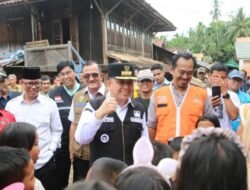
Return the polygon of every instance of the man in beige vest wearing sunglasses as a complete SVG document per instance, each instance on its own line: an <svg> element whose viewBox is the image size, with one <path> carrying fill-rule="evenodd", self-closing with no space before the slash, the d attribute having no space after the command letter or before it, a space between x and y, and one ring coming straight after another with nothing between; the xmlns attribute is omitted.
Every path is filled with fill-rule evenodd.
<svg viewBox="0 0 250 190"><path fill-rule="evenodd" d="M82 110L89 100L104 96L107 92L102 82L101 69L96 62L89 61L84 64L82 78L86 88L75 94L68 117L71 121L69 152L70 159L73 161L73 181L83 179L89 169L89 147L78 144L74 139Z"/></svg>

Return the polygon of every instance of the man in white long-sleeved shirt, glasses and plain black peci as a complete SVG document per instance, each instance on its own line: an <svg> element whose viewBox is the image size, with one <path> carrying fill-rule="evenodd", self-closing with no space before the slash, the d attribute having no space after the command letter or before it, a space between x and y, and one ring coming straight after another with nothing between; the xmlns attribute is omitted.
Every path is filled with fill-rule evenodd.
<svg viewBox="0 0 250 190"><path fill-rule="evenodd" d="M25 67L22 72L24 94L10 100L6 110L16 121L33 124L37 128L40 153L35 164L35 176L46 190L56 190L54 152L60 146L62 123L56 103L39 95L41 87L39 67Z"/></svg>

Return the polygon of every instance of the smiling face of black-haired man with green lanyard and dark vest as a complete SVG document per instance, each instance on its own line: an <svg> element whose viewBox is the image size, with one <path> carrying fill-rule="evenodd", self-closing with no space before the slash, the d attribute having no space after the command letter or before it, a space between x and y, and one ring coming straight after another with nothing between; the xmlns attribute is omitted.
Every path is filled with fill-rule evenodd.
<svg viewBox="0 0 250 190"><path fill-rule="evenodd" d="M76 74L69 66L64 67L58 76L60 77L62 84L67 88L72 89L74 87Z"/></svg>

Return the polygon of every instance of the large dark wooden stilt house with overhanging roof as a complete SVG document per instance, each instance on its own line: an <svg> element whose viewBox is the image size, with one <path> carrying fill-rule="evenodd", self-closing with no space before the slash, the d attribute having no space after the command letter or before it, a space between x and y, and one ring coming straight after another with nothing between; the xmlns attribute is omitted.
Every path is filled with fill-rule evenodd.
<svg viewBox="0 0 250 190"><path fill-rule="evenodd" d="M0 51L71 41L84 60L152 64L153 35L175 29L144 0L0 1Z"/></svg>

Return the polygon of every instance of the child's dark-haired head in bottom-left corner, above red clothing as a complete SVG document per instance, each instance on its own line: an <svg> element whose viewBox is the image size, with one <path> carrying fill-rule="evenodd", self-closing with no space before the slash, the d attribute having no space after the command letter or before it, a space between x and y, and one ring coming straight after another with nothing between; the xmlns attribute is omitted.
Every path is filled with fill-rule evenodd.
<svg viewBox="0 0 250 190"><path fill-rule="evenodd" d="M25 190L34 189L34 165L27 150L22 148L0 147L0 189L22 182Z"/></svg>

